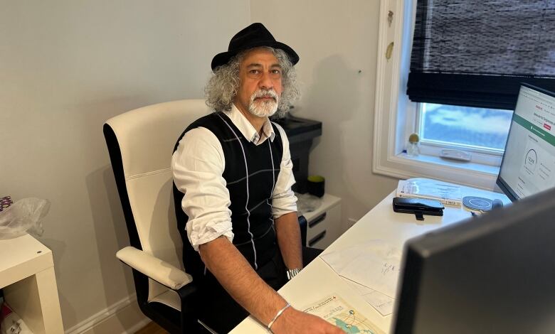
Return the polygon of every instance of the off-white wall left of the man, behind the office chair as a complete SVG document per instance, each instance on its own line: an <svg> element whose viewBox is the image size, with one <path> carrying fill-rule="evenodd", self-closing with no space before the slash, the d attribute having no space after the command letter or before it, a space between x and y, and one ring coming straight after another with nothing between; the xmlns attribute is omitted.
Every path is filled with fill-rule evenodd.
<svg viewBox="0 0 555 334"><path fill-rule="evenodd" d="M52 202L40 239L53 250L66 329L134 291L115 258L128 238L103 122L202 97L211 58L250 23L249 7L0 0L0 195Z"/></svg>

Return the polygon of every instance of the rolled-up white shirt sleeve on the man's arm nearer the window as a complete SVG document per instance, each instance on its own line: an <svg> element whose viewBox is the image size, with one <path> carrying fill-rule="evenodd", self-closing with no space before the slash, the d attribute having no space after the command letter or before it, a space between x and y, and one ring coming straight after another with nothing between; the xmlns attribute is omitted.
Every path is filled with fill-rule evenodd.
<svg viewBox="0 0 555 334"><path fill-rule="evenodd" d="M281 126L277 125L283 142L283 155L280 163L280 173L277 175L274 192L272 193L272 215L275 218L281 217L289 212L297 211L297 196L291 190L295 184L293 176L293 163L289 151L289 139Z"/></svg>

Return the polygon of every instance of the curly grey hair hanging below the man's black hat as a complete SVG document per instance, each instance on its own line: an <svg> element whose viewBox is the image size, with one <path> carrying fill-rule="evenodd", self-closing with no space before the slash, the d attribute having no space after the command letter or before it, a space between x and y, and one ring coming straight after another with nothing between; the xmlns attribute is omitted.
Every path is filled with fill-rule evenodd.
<svg viewBox="0 0 555 334"><path fill-rule="evenodd" d="M279 99L280 103L277 105L275 117L283 117L289 111L292 102L300 96L297 85L297 73L285 51L266 46L263 48L272 51L282 69L281 84L283 91ZM208 107L216 111L231 110L233 99L235 99L239 89L240 64L248 51L245 50L238 53L226 65L218 66L214 70L206 87L204 87Z"/></svg>

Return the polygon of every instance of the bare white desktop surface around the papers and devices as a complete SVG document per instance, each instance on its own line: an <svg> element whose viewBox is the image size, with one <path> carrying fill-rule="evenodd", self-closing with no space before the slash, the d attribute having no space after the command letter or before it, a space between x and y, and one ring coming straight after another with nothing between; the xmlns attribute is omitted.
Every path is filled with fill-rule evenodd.
<svg viewBox="0 0 555 334"><path fill-rule="evenodd" d="M503 203L510 203L509 199L503 194L462 187L462 196L466 195L483 196L490 199L498 198ZM324 254L371 239L383 239L391 245L402 249L406 239L472 217L470 211L462 207L453 208L445 206L443 216L425 215L425 220L418 222L414 215L393 212L391 204L393 197L394 192L384 198L376 207L364 215L361 220L356 222L353 227L331 244L324 251ZM335 293L338 296L342 296L347 303L368 318L374 325L384 330L384 332L389 333L391 329L393 315L381 316L361 296L352 291L351 287L319 257L314 259L313 262L295 276L295 279L285 284L279 293L297 309L302 309ZM231 333L268 333L268 330L254 318L248 317L234 328Z"/></svg>

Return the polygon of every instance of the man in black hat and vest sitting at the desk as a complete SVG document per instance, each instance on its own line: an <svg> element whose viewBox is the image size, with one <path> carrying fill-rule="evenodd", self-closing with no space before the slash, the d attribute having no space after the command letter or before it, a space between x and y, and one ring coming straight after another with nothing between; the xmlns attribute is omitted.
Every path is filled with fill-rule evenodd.
<svg viewBox="0 0 555 334"><path fill-rule="evenodd" d="M206 94L215 112L187 127L172 157L199 322L218 333L248 313L273 333L342 333L276 292L317 256L300 242L287 136L268 119L297 97L298 60L261 23L233 36L211 64Z"/></svg>

